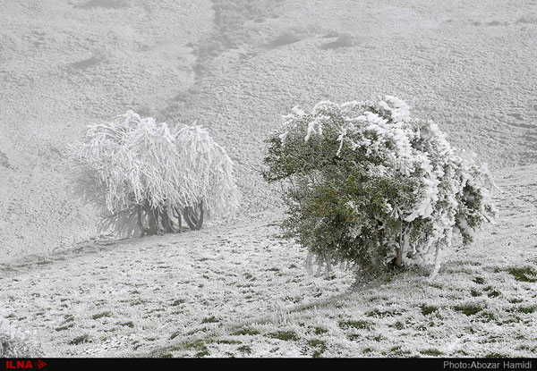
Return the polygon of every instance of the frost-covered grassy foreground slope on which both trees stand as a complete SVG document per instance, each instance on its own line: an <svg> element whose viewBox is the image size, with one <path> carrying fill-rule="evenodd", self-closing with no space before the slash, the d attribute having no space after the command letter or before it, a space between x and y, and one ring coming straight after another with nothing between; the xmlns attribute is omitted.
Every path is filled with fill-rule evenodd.
<svg viewBox="0 0 537 371"><path fill-rule="evenodd" d="M351 291L306 273L281 215L3 265L0 301L47 356L530 357L537 351L537 182L499 177L497 225L438 278L407 269ZM521 174L528 175L521 175Z"/></svg>

